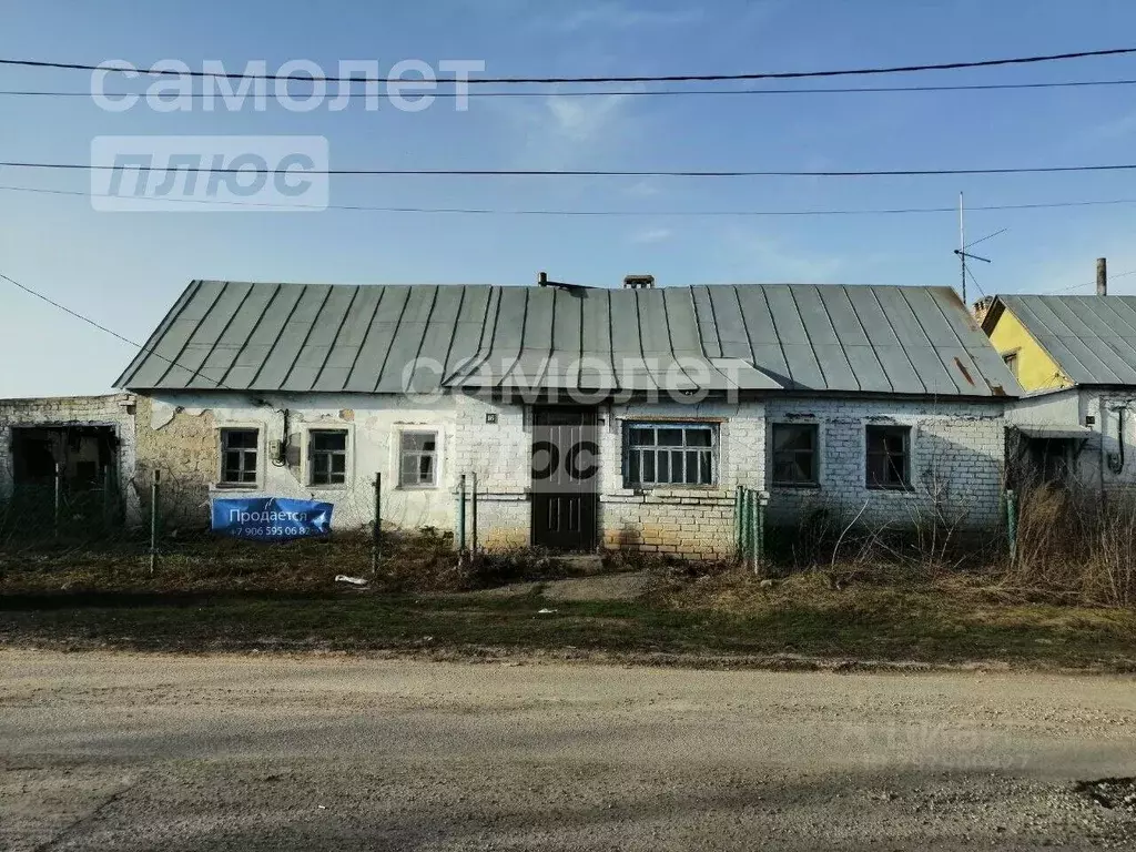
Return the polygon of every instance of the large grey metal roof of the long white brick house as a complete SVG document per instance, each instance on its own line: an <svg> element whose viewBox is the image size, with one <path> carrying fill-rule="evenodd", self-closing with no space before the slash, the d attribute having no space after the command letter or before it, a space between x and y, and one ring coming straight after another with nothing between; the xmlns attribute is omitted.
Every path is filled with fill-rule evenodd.
<svg viewBox="0 0 1136 852"><path fill-rule="evenodd" d="M199 281L115 384L351 393L1021 393L950 287L804 284L604 290Z"/></svg>

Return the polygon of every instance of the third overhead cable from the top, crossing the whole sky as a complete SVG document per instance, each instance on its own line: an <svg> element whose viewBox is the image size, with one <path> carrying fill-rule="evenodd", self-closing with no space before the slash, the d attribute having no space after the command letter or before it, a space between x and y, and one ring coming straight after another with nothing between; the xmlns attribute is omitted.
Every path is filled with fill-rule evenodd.
<svg viewBox="0 0 1136 852"><path fill-rule="evenodd" d="M175 169L162 166L108 166L90 162L0 162L0 168L27 168L64 172L208 172L215 175L286 175L282 169L269 168L211 168L185 166ZM760 170L760 169L511 169L511 168L329 168L304 169L304 175L394 177L928 177L950 175L1038 175L1075 172L1130 172L1136 164L1108 164L1096 166L1024 166L1009 168L922 168L922 169L864 169L864 170Z"/></svg>

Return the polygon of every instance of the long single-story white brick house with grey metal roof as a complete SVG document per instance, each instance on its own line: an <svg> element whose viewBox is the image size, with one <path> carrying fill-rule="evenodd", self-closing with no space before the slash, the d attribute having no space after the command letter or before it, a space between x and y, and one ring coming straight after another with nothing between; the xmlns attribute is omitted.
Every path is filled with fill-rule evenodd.
<svg viewBox="0 0 1136 852"><path fill-rule="evenodd" d="M947 287L342 286L195 281L116 386L139 476L309 496L335 524L454 527L477 477L487 548L734 549L826 506L997 523L1009 369ZM535 470L535 471L534 471ZM197 513L197 515L194 515Z"/></svg>

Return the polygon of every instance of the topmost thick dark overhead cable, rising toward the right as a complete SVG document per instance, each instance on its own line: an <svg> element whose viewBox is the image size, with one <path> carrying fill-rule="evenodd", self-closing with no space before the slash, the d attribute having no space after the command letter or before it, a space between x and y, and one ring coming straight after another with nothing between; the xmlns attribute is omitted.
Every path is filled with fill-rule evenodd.
<svg viewBox="0 0 1136 852"><path fill-rule="evenodd" d="M515 84L560 84L560 83L687 83L687 82L722 82L730 80L804 80L812 77L849 77L875 74L908 74L911 72L928 70L958 70L962 68L994 68L1009 65L1036 65L1039 62L1058 62L1070 59L1088 59L1093 57L1127 56L1136 53L1136 48L1112 48L1106 50L1080 50L1068 53L1049 53L1042 56L1011 57L1004 59L980 59L976 61L938 62L930 65L897 65L866 68L845 68L838 70L810 70L810 72L757 72L749 74L667 74L661 76L580 76L580 77L474 77L468 81L470 85L482 85L495 83L501 85ZM102 70L110 73L127 73L136 70L140 74L153 76L176 76L176 77L206 77L215 80L266 80L266 81L308 81L318 83L358 83L362 82L352 77L327 77L323 75L279 75L279 74L250 74L237 72L200 72L200 70L174 70L174 69L143 69L143 68L107 68L99 65L86 65L83 62L55 62L41 59L0 59L0 66L14 66L24 68L56 68L61 70ZM406 81L414 82L414 81ZM452 82L452 81L446 81Z"/></svg>

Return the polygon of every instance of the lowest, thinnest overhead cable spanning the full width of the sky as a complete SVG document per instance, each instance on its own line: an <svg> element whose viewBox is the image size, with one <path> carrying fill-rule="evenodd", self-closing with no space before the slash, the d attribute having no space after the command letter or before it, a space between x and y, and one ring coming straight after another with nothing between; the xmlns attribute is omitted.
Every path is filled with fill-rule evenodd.
<svg viewBox="0 0 1136 852"><path fill-rule="evenodd" d="M126 199L130 201L152 201L156 203L186 204L224 204L236 208L264 208L266 210L351 210L357 212L391 212L391 214L454 214L475 216L580 216L580 217L803 217L803 216L897 216L920 214L958 214L954 207L896 207L896 208L861 208L861 209L821 209L821 210L570 210L570 209L533 209L533 208L488 208L488 207L378 207L371 204L273 204L256 201L225 201L194 198L168 198L150 195L116 195L109 192L86 192L83 190L57 190L45 186L14 186L0 184L0 192L26 192L41 195L66 195L72 198ZM1136 204L1136 198L1100 199L1086 201L1050 201L1024 204L982 204L969 208L970 211L1011 211L1011 210L1049 210L1076 207L1111 207L1116 204ZM1001 233L1001 232L1000 232ZM1079 285L1078 285L1079 286Z"/></svg>

